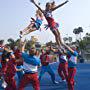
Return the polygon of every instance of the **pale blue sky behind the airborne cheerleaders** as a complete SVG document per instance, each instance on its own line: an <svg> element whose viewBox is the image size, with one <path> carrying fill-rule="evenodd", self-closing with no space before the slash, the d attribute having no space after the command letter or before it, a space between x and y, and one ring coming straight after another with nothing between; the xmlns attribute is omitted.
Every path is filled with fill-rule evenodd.
<svg viewBox="0 0 90 90"><path fill-rule="evenodd" d="M52 0L35 0L41 3L44 9L45 3ZM56 5L65 0L55 0ZM19 31L30 23L30 18L35 17L37 8L29 0L1 0L0 2L0 39L18 39ZM83 34L90 33L90 0L69 0L69 2L53 12L55 21L60 24L61 37L73 37L73 29L82 27ZM25 38L36 36L38 41L46 43L55 42L54 35L50 30L35 31Z"/></svg>

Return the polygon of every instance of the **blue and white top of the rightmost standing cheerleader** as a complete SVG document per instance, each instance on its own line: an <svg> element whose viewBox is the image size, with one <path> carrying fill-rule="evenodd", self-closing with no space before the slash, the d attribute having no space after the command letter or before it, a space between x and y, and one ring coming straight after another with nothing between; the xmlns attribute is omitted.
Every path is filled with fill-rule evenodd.
<svg viewBox="0 0 90 90"><path fill-rule="evenodd" d="M77 51L74 51L73 54L71 52L68 52L68 55L69 55L69 58L68 58L68 67L70 67L70 68L76 67L77 57L78 57Z"/></svg>

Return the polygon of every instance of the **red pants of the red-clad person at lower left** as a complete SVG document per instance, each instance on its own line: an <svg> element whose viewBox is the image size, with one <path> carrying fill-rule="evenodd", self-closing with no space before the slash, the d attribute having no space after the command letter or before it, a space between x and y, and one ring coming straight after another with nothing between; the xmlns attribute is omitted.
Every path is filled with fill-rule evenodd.
<svg viewBox="0 0 90 90"><path fill-rule="evenodd" d="M5 81L7 83L5 90L16 90L16 81L14 77L5 77Z"/></svg>

